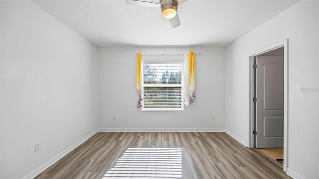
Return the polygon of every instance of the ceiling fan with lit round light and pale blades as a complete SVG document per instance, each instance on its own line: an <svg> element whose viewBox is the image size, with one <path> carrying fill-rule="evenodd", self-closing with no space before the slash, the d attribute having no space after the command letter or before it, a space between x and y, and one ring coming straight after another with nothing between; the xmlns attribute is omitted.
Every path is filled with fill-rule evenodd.
<svg viewBox="0 0 319 179"><path fill-rule="evenodd" d="M180 25L180 20L177 15L178 5L186 1L187 0L160 0L160 3L155 3L142 0L126 0L125 2L128 5L160 8L163 17L169 19L171 26L176 28Z"/></svg>

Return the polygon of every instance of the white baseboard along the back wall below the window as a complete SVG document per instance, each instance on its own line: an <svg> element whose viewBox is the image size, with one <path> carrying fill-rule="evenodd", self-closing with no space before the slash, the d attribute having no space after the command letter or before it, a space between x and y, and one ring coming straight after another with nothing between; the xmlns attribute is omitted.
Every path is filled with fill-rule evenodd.
<svg viewBox="0 0 319 179"><path fill-rule="evenodd" d="M100 128L99 132L225 132L211 128Z"/></svg>

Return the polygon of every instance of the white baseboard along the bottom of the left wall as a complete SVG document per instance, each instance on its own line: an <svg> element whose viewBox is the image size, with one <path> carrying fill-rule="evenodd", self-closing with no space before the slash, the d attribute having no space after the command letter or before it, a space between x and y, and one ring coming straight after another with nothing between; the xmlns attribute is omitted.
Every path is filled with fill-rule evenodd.
<svg viewBox="0 0 319 179"><path fill-rule="evenodd" d="M82 138L81 140L79 140L78 142L76 142L75 144L73 144L72 146L70 146L69 148L65 149L64 151L62 151L60 154L56 155L55 157L53 157L51 160L49 160L48 162L44 163L42 166L38 167L37 169L35 169L34 171L32 171L31 173L29 173L28 175L24 176L22 179L33 179L34 177L36 177L37 175L39 175L41 172L43 172L45 169L47 169L48 167L50 167L52 164L54 164L55 162L57 162L59 159L61 159L62 157L64 157L65 155L67 155L69 152L71 152L72 150L74 150L76 147L78 147L79 145L81 145L83 142L85 142L86 140L88 140L90 137L94 136L96 133L98 132L98 130L94 130L93 132L91 132L90 134L88 134L87 136L85 136L84 138Z"/></svg>

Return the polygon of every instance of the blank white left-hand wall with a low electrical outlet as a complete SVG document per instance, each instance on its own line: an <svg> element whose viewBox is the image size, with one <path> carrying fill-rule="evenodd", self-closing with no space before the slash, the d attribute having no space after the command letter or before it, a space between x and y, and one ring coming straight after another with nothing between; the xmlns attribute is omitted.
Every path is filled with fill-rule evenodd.
<svg viewBox="0 0 319 179"><path fill-rule="evenodd" d="M24 0L0 1L0 39L0 178L19 179L98 128L97 48Z"/></svg>

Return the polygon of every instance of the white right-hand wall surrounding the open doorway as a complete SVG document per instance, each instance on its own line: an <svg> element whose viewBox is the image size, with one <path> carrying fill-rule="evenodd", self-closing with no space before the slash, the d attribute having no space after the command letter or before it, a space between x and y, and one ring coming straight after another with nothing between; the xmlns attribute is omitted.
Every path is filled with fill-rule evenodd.
<svg viewBox="0 0 319 179"><path fill-rule="evenodd" d="M289 39L287 173L305 179L319 178L318 13L319 1L301 1L227 46L225 52L226 130L248 144L249 55Z"/></svg>

